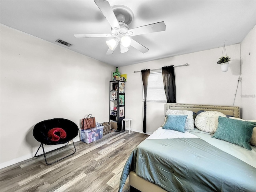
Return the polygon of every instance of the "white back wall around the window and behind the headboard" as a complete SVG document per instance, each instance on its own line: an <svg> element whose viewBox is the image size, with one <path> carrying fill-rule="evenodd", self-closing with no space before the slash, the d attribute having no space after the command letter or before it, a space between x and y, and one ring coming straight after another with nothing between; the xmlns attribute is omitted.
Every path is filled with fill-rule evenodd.
<svg viewBox="0 0 256 192"><path fill-rule="evenodd" d="M175 68L177 103L233 105L234 94L240 72L240 44L226 46L231 57L227 72L216 64L222 54L222 47L171 58L165 58L120 68L127 74L125 116L132 118L134 130L142 132L143 106L141 73L142 69L156 69L162 66L190 64ZM150 50L148 51L150 54ZM241 88L238 87L235 106L241 105ZM147 102L147 133L151 134L163 124L166 104Z"/></svg>

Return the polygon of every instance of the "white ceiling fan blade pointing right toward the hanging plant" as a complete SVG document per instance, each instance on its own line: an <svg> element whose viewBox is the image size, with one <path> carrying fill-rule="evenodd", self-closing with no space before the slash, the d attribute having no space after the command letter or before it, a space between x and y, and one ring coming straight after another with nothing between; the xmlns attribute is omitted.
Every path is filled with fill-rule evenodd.
<svg viewBox="0 0 256 192"><path fill-rule="evenodd" d="M128 31L130 36L136 36L136 35L142 35L142 34L147 34L147 33L154 33L154 32L159 32L159 31L165 31L166 25L164 22L158 22L158 23L152 23L149 25L137 27L130 29Z"/></svg>

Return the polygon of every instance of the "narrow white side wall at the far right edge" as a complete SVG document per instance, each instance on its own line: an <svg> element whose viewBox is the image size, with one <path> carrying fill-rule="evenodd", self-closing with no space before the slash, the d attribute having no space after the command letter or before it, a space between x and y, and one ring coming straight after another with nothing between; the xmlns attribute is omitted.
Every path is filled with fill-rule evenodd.
<svg viewBox="0 0 256 192"><path fill-rule="evenodd" d="M256 119L256 26L241 43L242 118Z"/></svg>

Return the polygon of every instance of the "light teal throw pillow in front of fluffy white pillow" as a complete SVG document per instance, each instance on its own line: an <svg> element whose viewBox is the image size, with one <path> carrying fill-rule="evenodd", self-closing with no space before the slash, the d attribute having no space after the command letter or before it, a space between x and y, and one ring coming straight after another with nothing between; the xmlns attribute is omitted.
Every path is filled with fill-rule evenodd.
<svg viewBox="0 0 256 192"><path fill-rule="evenodd" d="M162 128L184 133L187 117L187 115L166 115L166 121Z"/></svg>

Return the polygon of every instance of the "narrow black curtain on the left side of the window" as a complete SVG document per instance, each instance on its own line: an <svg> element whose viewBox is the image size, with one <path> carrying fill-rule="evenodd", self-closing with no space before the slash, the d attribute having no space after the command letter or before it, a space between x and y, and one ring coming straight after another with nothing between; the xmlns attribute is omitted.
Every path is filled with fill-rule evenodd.
<svg viewBox="0 0 256 192"><path fill-rule="evenodd" d="M144 88L144 118L143 118L143 132L146 133L146 114L147 114L147 93L148 93L148 76L150 69L141 70L143 88Z"/></svg>

